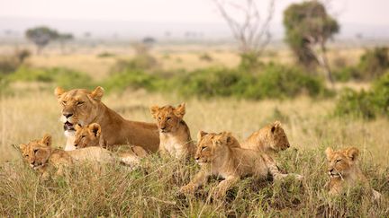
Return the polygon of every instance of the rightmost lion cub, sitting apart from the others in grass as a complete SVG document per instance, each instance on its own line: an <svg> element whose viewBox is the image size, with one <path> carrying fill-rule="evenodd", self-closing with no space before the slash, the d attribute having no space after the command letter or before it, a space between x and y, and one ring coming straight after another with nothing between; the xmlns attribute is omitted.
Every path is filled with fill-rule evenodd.
<svg viewBox="0 0 389 218"><path fill-rule="evenodd" d="M370 187L368 180L357 165L359 150L355 147L348 147L333 151L328 147L325 151L328 160L328 173L330 181L327 186L330 188L330 196L339 196L349 187L361 184L366 190L371 190L375 200L381 194Z"/></svg>

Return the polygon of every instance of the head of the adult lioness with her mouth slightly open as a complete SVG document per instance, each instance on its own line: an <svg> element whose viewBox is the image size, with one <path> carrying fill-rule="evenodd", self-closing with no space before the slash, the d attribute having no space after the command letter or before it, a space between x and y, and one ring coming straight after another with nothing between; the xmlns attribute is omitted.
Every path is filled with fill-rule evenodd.
<svg viewBox="0 0 389 218"><path fill-rule="evenodd" d="M60 120L64 123L65 133L74 132L75 125L87 125L97 117L98 106L104 95L104 89L96 87L93 92L85 89L74 89L68 92L58 87L55 95L62 106Z"/></svg>

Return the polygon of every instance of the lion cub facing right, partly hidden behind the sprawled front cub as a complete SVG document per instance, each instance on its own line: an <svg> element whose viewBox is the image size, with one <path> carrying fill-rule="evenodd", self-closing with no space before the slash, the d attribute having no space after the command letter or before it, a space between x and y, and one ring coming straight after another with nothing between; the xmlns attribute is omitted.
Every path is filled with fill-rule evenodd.
<svg viewBox="0 0 389 218"><path fill-rule="evenodd" d="M276 121L249 135L240 146L262 153L274 154L289 148L290 144L281 122Z"/></svg>

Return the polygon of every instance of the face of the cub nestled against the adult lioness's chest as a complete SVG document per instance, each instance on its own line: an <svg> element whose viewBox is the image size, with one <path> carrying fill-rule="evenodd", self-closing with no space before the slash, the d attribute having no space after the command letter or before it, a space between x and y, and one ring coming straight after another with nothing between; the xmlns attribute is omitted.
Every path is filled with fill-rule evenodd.
<svg viewBox="0 0 389 218"><path fill-rule="evenodd" d="M87 126L76 125L74 145L76 149L88 146L99 146L101 126L93 123Z"/></svg>

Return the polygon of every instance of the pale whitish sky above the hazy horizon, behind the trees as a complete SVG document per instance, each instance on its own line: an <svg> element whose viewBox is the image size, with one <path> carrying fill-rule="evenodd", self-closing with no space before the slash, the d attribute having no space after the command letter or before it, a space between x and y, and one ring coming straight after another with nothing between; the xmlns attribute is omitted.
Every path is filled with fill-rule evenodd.
<svg viewBox="0 0 389 218"><path fill-rule="evenodd" d="M257 2L260 8L267 8L267 0ZM282 25L285 7L296 2L302 1L276 0L274 25ZM330 2L330 13L340 23L353 24L354 29L357 28L355 25L389 27L389 0ZM213 0L0 0L0 29L1 25L5 28L9 19L106 23L224 23Z"/></svg>

